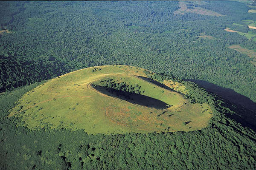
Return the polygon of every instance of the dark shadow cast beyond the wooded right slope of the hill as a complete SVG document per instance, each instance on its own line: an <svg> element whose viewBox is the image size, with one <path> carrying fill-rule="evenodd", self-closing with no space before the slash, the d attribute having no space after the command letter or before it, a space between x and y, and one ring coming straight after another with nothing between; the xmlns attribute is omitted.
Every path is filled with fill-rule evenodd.
<svg viewBox="0 0 256 170"><path fill-rule="evenodd" d="M237 115L227 115L241 123L244 127L250 127L256 131L256 103L248 97L243 96L229 88L222 88L218 85L198 79L187 79L186 81L195 82L200 87L205 88L212 94L217 94L224 99L224 106L235 111ZM235 104L235 105L233 105Z"/></svg>

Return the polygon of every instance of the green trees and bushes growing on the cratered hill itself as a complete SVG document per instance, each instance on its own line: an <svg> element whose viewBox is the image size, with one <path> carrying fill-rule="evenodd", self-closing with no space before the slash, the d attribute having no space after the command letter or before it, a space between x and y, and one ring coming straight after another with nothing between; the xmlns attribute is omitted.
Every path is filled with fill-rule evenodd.
<svg viewBox="0 0 256 170"><path fill-rule="evenodd" d="M93 70L95 71L91 73L97 72L96 68ZM135 68L134 71L136 73ZM22 121L25 120L24 116L8 116L9 111L22 102L20 98L24 98L27 94L32 95L35 93L32 91L49 83L41 82L0 94L0 149L2 150L0 168L4 170L255 169L256 121L253 118L255 113L209 94L192 82L164 74L137 71L137 74L145 73L147 77L157 80L158 83L143 78L145 81L148 80L160 87L165 87L160 84L164 83L187 97L186 100L192 103L207 102L214 114L209 127L189 132L88 134L84 129L52 129L45 126L32 130L26 126L17 126L20 123L25 124ZM81 74L82 76L85 77ZM51 81L54 80L56 79ZM124 97L115 95L121 86L105 87L104 80L108 80L108 77L91 83L91 88L96 88L98 94L109 93L109 96L117 99ZM120 82L124 87L121 78L113 79L111 82ZM106 84L111 86L111 82ZM133 95L137 95L144 91L142 86L136 87L136 82L128 83L129 87L134 89L129 90L128 85L128 88L121 88L125 94L135 91ZM40 86L37 87L39 84ZM98 87L93 88L93 85ZM75 87L80 87L77 86ZM122 93L119 91L118 94ZM153 108L154 105L150 106ZM249 126L250 122L251 126Z"/></svg>

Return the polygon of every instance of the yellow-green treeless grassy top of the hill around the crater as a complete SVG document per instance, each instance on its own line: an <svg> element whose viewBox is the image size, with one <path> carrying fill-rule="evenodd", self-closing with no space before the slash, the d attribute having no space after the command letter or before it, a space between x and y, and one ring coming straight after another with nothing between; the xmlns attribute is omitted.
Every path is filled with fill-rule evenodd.
<svg viewBox="0 0 256 170"><path fill-rule="evenodd" d="M183 97L185 86L170 80L160 84L143 71L108 65L64 74L25 94L9 116L20 116L31 129L47 125L93 134L192 131L208 126L209 105L190 103ZM140 93L120 95L120 90L102 86L105 81L140 86Z"/></svg>

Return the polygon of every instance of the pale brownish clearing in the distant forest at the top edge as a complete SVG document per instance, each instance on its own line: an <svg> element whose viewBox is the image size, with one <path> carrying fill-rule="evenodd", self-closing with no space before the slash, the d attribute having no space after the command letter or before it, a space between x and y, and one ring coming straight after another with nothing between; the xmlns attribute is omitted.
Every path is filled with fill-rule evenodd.
<svg viewBox="0 0 256 170"><path fill-rule="evenodd" d="M200 2L196 1L195 3L200 3ZM196 14L210 15L210 16L217 16L217 17L224 16L217 12L214 12L214 11L211 11L208 9L204 9L201 7L187 8L185 1L180 1L179 6L180 6L180 9L176 10L174 12L174 14L185 14L187 12L191 12L191 13L196 13Z"/></svg>

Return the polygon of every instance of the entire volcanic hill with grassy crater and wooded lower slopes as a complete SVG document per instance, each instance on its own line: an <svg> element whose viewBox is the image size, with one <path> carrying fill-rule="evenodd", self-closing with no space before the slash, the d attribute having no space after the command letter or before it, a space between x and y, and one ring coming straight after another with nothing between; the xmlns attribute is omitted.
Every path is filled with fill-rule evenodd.
<svg viewBox="0 0 256 170"><path fill-rule="evenodd" d="M0 95L0 112L2 169L255 169L254 112L142 68L17 88Z"/></svg>

